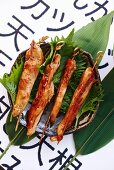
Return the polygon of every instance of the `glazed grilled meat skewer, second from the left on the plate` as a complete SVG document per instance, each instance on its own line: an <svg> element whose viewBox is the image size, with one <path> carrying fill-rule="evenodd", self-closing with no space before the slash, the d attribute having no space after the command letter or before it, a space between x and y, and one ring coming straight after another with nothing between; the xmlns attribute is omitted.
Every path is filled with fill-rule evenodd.
<svg viewBox="0 0 114 170"><path fill-rule="evenodd" d="M53 75L60 65L61 56L59 54L54 54L53 61L51 64L46 66L45 74L43 75L35 99L28 111L27 120L27 135L31 136L35 130L36 126L41 118L41 115L47 105L54 95L54 85L52 82Z"/></svg>

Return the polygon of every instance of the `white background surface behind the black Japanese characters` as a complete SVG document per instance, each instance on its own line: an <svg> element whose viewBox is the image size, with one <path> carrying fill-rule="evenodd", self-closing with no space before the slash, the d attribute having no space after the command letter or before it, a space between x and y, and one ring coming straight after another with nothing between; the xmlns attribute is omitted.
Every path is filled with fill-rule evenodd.
<svg viewBox="0 0 114 170"><path fill-rule="evenodd" d="M95 9L95 1L91 0L80 0L77 2L77 5L82 6L84 4L88 4L88 7L83 10L77 10L74 8L73 3L74 0L67 0L67 1L60 1L60 0L48 0L45 2L50 6L50 9L47 11L45 15L43 15L39 20L34 20L31 17L31 14L34 15L40 14L40 12L43 10L43 6L39 5L32 9L28 10L22 10L21 6L29 6L36 2L36 0L1 0L0 1L0 33L8 33L11 32L12 29L8 27L7 23L10 22L12 25L15 25L15 27L18 27L17 21L15 21L12 18L12 15L15 15L17 18L19 18L22 22L24 22L27 26L29 26L32 30L34 30L35 34L31 34L26 29L23 29L23 33L28 37L28 40L23 39L21 36L18 36L18 44L20 51L17 52L14 48L14 38L11 37L0 37L0 49L2 49L4 52L6 52L9 56L13 58L11 62L9 62L8 59L2 58L2 55L0 55L0 61L4 61L6 63L5 67L0 66L0 77L5 73L9 72L12 64L14 63L17 55L27 49L29 47L29 44L32 39L35 39L36 41L44 36L49 35L50 37L55 37L56 35L59 36L67 36L68 33L72 30L72 28L75 27L75 30L78 30L82 26L86 25L88 22L91 22L91 16L85 17L85 13L90 12L92 9ZM98 0L97 2L103 3L104 0ZM110 2L106 5L108 9L108 13L114 9L113 0L110 0ZM52 18L55 8L58 9L58 14L55 19ZM64 21L61 23L60 17L61 13L65 12L65 18ZM101 9L95 14L93 14L94 18L97 19L100 16L102 16L104 11ZM47 31L47 27L52 28L59 28L67 25L69 22L75 21L75 24L71 27L58 32L50 32ZM114 44L114 23L111 26L110 30L110 37L109 37L109 43L107 46L107 49L113 48ZM2 60L1 60L2 59ZM114 66L114 60L113 57L108 56L107 50L105 53L105 57L101 64L108 61L109 66L105 69L100 70L101 78L103 79L104 76L113 68ZM3 88L2 85L0 85L0 94L1 96L4 94L7 98L6 90ZM8 100L7 100L8 102ZM0 140L2 141L0 147L3 149L8 144L8 138L6 134L3 132L3 124L6 121L5 116L2 121L0 122ZM30 142L30 145L37 142L37 138L33 139ZM19 147L12 146L10 147L7 154L0 160L0 164L2 163L9 163L9 165L14 163L14 160L12 160L11 155L15 155L21 159L21 164L19 164L17 167L14 168L14 170L47 170L49 167L51 167L52 164L49 164L49 159L55 158L58 154L57 151L63 151L66 147L68 148L68 152L66 153L66 156L69 156L70 154L75 153L75 147L73 143L72 135L65 136L64 139L60 142L59 145L57 143L51 143L49 139L47 139L47 142L49 142L54 148L54 151L50 151L50 149L47 146L43 146L42 149L42 158L43 158L43 166L38 165L37 161L37 150L38 148L34 148L32 150L21 150ZM86 155L86 156L78 156L78 160L82 162L82 166L79 170L113 170L114 169L114 141L110 142L107 146L104 148ZM58 170L60 166L56 166L54 170ZM73 169L72 167L70 168Z"/></svg>

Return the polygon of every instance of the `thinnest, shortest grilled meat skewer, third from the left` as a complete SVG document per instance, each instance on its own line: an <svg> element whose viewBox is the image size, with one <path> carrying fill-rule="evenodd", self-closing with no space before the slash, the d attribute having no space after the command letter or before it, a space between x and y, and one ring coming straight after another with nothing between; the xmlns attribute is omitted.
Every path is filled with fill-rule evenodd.
<svg viewBox="0 0 114 170"><path fill-rule="evenodd" d="M53 108L50 113L49 119L50 119L51 124L53 124L55 122L55 119L59 113L59 110L60 110L60 107L61 107L61 104L63 101L63 97L66 93L67 86L69 84L70 78L71 78L75 69L76 69L76 61L74 59L68 59L66 61L64 73L61 77L60 85L57 90L55 103L54 103Z"/></svg>

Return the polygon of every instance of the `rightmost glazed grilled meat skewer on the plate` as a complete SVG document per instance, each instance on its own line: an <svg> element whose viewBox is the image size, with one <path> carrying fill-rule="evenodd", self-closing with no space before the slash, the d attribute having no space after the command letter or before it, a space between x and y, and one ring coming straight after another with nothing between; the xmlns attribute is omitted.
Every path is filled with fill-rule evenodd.
<svg viewBox="0 0 114 170"><path fill-rule="evenodd" d="M88 67L81 78L81 81L76 88L74 95L72 97L72 101L70 103L70 106L65 114L65 117L62 119L60 124L57 128L57 136L52 136L50 139L51 141L61 141L63 138L63 134L66 129L68 129L74 119L76 118L76 115L81 108L83 102L85 101L93 83L95 82L95 73L92 67Z"/></svg>

